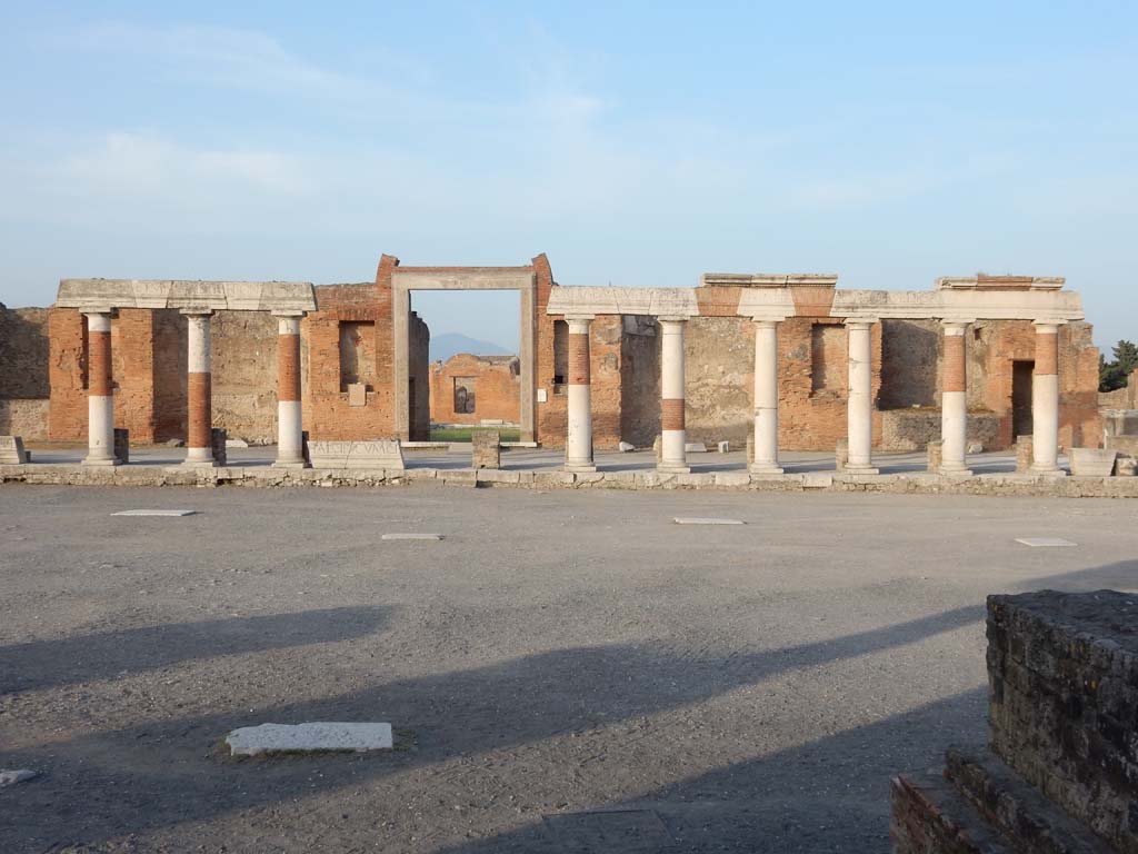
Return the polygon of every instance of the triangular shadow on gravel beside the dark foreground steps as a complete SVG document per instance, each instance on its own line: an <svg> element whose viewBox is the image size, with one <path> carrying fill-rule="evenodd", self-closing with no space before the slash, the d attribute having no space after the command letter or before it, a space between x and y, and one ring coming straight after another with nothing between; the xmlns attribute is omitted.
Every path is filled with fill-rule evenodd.
<svg viewBox="0 0 1138 854"><path fill-rule="evenodd" d="M604 805L550 814L438 854L892 851L889 780L939 764L984 688ZM926 739L898 733L933 733ZM982 736L982 733L981 733Z"/></svg>

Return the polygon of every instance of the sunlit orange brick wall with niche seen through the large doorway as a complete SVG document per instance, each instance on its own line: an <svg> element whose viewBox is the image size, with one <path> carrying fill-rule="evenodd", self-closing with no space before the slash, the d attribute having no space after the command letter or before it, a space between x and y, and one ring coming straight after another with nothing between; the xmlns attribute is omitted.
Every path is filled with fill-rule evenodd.
<svg viewBox="0 0 1138 854"><path fill-rule="evenodd" d="M521 417L521 376L518 356L459 353L430 366L430 418L436 424L518 424ZM454 380L475 380L475 411L454 411Z"/></svg>

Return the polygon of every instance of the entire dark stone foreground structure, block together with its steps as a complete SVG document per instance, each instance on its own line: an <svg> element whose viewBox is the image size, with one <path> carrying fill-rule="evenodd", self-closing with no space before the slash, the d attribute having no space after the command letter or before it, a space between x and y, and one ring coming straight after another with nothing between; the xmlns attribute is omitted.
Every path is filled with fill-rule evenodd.
<svg viewBox="0 0 1138 854"><path fill-rule="evenodd" d="M1138 852L1138 596L988 600L988 747L892 785L897 854Z"/></svg>

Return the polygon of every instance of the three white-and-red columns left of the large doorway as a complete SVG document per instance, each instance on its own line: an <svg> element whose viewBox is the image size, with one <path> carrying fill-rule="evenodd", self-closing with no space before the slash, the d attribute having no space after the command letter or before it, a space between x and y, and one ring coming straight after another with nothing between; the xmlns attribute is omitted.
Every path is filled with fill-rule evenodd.
<svg viewBox="0 0 1138 854"><path fill-rule="evenodd" d="M182 309L187 321L185 462L217 465L213 452L213 394L209 328L213 310ZM300 318L303 311L274 311L277 339L277 460L286 468L304 467L300 413ZM83 312L88 335L86 466L115 466L115 399L112 389L112 311Z"/></svg>

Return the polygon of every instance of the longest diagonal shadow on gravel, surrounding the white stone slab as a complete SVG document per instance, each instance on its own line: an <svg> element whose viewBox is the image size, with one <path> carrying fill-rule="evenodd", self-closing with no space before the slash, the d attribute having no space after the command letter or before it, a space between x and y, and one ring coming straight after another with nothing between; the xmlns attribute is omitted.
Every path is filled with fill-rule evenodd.
<svg viewBox="0 0 1138 854"><path fill-rule="evenodd" d="M777 674L851 659L978 624L980 607L957 608L833 640L693 660L643 646L583 647L527 656L457 673L377 685L339 697L256 712L143 722L44 748L11 752L11 767L49 771L20 799L19 838L58 841L58 808L81 787L83 810L67 832L107 839L238 808L358 786L409 767L536 742L563 732L657 714L752 685ZM455 712L461 718L455 724ZM312 762L239 763L218 767L209 746L236 726L273 721L386 720L414 722L419 747L382 758L329 756ZM14 839L15 815L0 813L0 841ZM2 846L0 846L2 847Z"/></svg>

